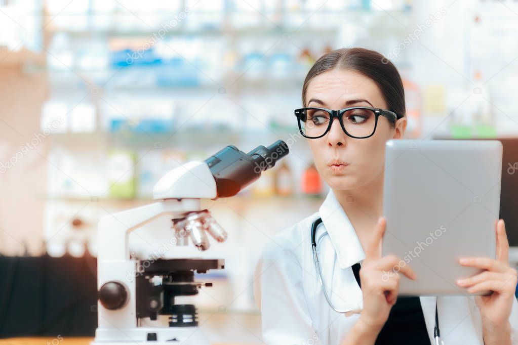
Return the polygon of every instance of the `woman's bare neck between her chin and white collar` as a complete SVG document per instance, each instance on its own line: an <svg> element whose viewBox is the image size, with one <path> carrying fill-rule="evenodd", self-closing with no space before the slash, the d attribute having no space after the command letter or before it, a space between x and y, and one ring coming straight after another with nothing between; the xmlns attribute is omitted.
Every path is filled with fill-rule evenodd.
<svg viewBox="0 0 518 345"><path fill-rule="evenodd" d="M383 215L383 175L380 174L367 186L333 190L361 240L367 237Z"/></svg>

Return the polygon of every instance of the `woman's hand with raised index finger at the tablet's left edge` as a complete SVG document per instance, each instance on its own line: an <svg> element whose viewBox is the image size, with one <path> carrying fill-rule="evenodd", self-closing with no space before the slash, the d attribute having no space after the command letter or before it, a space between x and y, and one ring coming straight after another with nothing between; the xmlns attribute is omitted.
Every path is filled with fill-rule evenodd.
<svg viewBox="0 0 518 345"><path fill-rule="evenodd" d="M363 293L363 310L360 319L371 327L371 332L380 332L396 303L399 291L399 274L415 279L405 261L395 255L381 257L381 244L385 233L386 220L381 217L368 243L365 260L359 270ZM400 264L402 263L402 264Z"/></svg>

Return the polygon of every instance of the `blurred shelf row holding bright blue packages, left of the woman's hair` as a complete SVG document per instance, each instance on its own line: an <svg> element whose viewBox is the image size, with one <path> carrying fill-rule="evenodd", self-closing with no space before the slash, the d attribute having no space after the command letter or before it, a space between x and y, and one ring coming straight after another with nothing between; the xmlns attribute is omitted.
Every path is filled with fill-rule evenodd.
<svg viewBox="0 0 518 345"><path fill-rule="evenodd" d="M230 44L227 38L184 37L149 44L141 37L75 41L59 33L45 52L47 64L25 70L48 71L52 87L300 87L315 58L330 50L334 37L326 35L316 40L324 46L309 48L307 41L295 45L279 39Z"/></svg>

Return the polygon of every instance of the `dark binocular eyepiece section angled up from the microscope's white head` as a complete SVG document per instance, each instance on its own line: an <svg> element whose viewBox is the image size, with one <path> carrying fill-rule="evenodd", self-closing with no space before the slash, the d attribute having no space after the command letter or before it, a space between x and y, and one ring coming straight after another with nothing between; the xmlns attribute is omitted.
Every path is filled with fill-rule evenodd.
<svg viewBox="0 0 518 345"><path fill-rule="evenodd" d="M235 196L289 152L288 145L278 140L268 147L257 146L248 154L229 145L207 158L205 162L214 176L218 198Z"/></svg>

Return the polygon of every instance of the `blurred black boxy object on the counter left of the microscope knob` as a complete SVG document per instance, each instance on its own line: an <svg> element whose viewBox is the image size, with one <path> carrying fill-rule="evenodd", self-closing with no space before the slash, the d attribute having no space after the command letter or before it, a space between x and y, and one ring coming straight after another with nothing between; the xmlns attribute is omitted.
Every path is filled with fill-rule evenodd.
<svg viewBox="0 0 518 345"><path fill-rule="evenodd" d="M97 260L0 257L0 337L93 336Z"/></svg>

